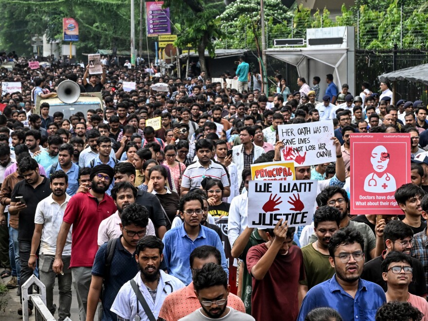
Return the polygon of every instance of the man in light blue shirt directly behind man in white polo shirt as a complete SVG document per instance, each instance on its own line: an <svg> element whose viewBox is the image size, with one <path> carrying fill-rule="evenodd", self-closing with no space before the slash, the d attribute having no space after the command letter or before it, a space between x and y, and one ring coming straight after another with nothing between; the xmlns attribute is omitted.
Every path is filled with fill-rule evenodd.
<svg viewBox="0 0 428 321"><path fill-rule="evenodd" d="M79 166L71 161L73 155L73 146L71 144L61 144L58 148L58 162L47 168L48 175L55 171L63 171L69 178L67 194L73 196L79 188Z"/></svg>

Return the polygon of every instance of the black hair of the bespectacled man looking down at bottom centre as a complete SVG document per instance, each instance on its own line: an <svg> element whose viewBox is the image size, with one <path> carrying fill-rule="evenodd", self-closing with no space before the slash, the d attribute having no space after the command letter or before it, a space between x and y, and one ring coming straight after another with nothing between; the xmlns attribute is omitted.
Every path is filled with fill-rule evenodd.
<svg viewBox="0 0 428 321"><path fill-rule="evenodd" d="M193 285L196 291L215 285L228 286L228 277L221 265L207 263L201 269L195 271Z"/></svg>

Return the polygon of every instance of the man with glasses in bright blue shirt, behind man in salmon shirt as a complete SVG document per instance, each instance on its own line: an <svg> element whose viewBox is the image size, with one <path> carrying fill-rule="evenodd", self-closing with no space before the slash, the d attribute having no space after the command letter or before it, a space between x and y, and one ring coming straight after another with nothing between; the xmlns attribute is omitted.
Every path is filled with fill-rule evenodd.
<svg viewBox="0 0 428 321"><path fill-rule="evenodd" d="M163 236L163 258L168 273L177 277L185 285L192 282L192 271L189 265L190 253L202 245L211 245L221 254L221 266L229 274L223 244L218 234L200 224L202 220L202 197L196 193L188 193L181 197L178 204L184 224L169 230Z"/></svg>

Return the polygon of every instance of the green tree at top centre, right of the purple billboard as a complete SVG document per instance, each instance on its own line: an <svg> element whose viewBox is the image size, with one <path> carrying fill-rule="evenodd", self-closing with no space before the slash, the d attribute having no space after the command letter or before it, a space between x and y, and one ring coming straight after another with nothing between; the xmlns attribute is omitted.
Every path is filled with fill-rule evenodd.
<svg viewBox="0 0 428 321"><path fill-rule="evenodd" d="M224 9L222 0L164 0L169 7L180 34L175 45L180 48L190 44L199 56L201 71L207 72L205 50L215 56L214 40L223 36L220 19L216 18Z"/></svg>

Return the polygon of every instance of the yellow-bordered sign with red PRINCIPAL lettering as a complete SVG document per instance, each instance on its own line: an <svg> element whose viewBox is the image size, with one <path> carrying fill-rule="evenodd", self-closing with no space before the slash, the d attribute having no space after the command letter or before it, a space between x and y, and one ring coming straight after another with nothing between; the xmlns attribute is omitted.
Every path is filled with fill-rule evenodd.
<svg viewBox="0 0 428 321"><path fill-rule="evenodd" d="M278 161L251 165L252 180L293 180L296 178L293 161Z"/></svg>

